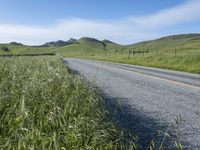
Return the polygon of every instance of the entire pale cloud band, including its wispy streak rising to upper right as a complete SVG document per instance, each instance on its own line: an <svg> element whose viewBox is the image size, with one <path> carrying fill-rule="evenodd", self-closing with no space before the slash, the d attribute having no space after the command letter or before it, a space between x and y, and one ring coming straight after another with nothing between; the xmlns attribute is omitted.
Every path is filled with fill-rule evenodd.
<svg viewBox="0 0 200 150"><path fill-rule="evenodd" d="M90 36L128 44L166 35L167 28L193 21L200 21L199 0L186 1L149 16L112 21L69 18L49 26L0 24L0 43L17 41L35 45L51 40Z"/></svg>

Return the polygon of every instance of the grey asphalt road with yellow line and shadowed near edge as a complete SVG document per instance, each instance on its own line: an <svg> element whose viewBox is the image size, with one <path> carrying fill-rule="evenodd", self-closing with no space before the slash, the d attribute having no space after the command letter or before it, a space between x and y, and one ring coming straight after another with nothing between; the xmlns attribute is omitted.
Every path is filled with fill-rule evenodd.
<svg viewBox="0 0 200 150"><path fill-rule="evenodd" d="M174 140L184 149L200 149L200 75L82 59L65 59L74 70L98 87L115 108L115 120L136 133L143 148L152 139L159 145L176 116L180 116L179 138L170 129L166 149Z"/></svg>

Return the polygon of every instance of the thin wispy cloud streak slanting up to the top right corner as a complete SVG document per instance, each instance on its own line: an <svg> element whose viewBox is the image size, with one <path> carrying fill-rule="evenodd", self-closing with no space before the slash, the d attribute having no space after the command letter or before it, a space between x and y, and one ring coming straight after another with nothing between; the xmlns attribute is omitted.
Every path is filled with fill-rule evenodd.
<svg viewBox="0 0 200 150"><path fill-rule="evenodd" d="M130 21L137 26L153 29L196 20L200 20L200 0L190 0L180 6L161 10L150 16L130 19Z"/></svg>

